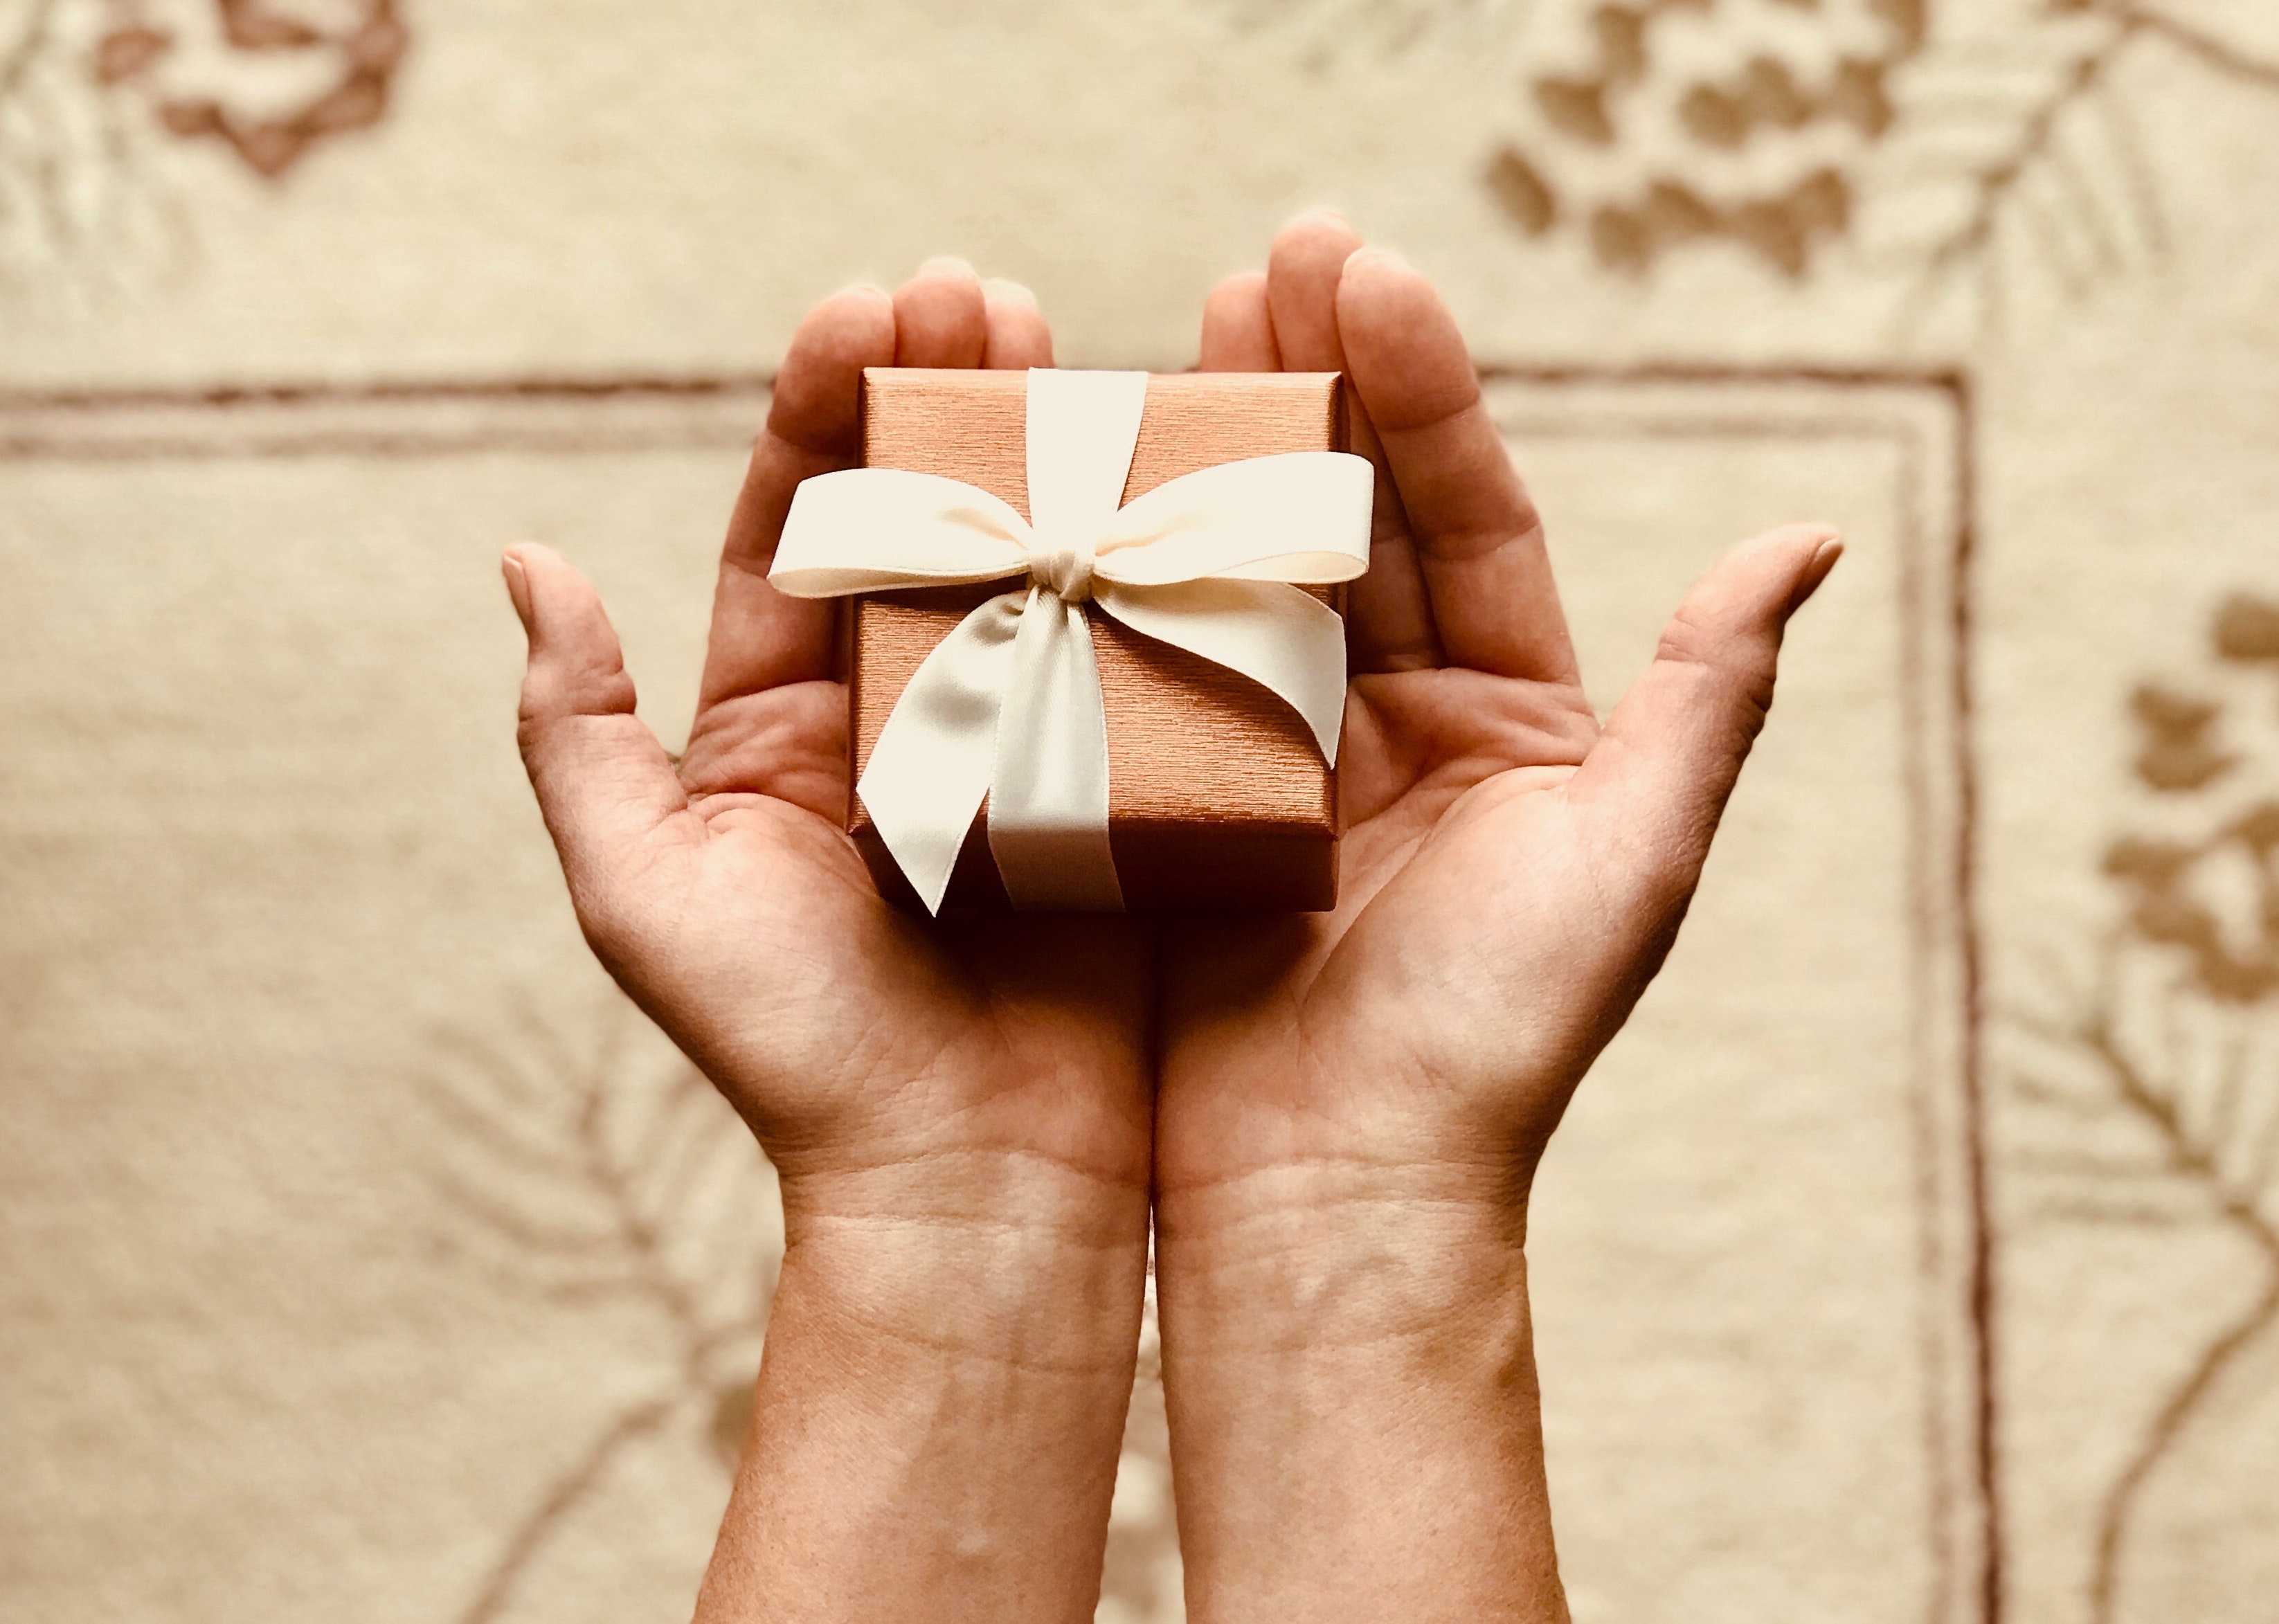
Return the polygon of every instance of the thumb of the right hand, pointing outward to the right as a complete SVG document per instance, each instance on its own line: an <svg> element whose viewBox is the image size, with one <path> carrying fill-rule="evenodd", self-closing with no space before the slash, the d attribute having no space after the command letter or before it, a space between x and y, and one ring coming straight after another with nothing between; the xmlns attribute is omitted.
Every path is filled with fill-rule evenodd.
<svg viewBox="0 0 2279 1624"><path fill-rule="evenodd" d="M1664 913L1693 893L1773 708L1782 629L1841 553L1821 524L1791 524L1730 551L1671 617L1655 663L1568 784L1570 802L1609 811L1600 827L1623 845L1611 872L1639 877Z"/></svg>

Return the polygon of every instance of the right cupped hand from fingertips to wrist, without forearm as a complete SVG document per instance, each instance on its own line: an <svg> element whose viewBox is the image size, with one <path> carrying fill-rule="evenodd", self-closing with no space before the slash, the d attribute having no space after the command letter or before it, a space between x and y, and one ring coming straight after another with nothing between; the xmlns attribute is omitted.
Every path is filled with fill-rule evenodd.
<svg viewBox="0 0 2279 1624"><path fill-rule="evenodd" d="M1224 282L1206 371L1345 371L1377 465L1349 604L1335 913L1167 932L1155 1168L1190 1223L1415 1175L1518 1219L1659 968L1828 528L1732 551L1600 727L1543 547L1431 285L1304 216ZM1194 1200L1187 1200L1194 1198Z"/></svg>

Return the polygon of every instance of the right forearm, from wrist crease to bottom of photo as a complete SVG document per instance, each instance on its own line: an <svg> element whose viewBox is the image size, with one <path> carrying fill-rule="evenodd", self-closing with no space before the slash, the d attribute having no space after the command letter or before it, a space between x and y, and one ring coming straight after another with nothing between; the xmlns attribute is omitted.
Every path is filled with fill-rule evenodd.
<svg viewBox="0 0 2279 1624"><path fill-rule="evenodd" d="M1281 1168L1155 1248L1190 1617L1566 1619L1516 1214Z"/></svg>

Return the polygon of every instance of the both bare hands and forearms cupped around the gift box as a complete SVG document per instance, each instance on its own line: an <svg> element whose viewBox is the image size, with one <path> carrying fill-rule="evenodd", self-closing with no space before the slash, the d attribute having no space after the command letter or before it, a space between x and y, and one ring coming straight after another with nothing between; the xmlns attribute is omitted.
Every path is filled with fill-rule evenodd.
<svg viewBox="0 0 2279 1624"><path fill-rule="evenodd" d="M752 1440L697 1619L1092 1615L1151 1178L1196 1619L1557 1619L1527 1321L1545 1139L1677 932L1825 528L1741 547L1604 729L1429 285L1335 216L1203 364L1342 369L1379 462L1329 916L912 920L841 831L832 606L766 585L866 364L1048 364L932 262L800 328L688 752L593 590L513 549L522 747L595 952L782 1171Z"/></svg>

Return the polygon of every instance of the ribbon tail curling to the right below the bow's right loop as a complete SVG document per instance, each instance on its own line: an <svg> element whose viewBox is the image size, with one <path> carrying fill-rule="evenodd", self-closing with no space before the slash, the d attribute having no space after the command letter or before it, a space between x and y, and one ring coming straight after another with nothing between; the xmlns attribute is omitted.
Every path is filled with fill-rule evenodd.
<svg viewBox="0 0 2279 1624"><path fill-rule="evenodd" d="M1133 631L1242 672L1306 717L1322 758L1338 765L1345 727L1345 620L1281 581L1094 585L1094 601Z"/></svg>

